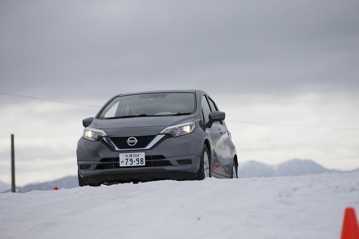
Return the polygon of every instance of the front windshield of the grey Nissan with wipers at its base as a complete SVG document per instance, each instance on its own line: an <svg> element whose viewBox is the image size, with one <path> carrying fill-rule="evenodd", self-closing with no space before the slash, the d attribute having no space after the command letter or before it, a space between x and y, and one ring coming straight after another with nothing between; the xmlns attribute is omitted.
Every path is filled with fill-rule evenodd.
<svg viewBox="0 0 359 239"><path fill-rule="evenodd" d="M195 93L118 96L101 111L98 119L193 114L195 106Z"/></svg>

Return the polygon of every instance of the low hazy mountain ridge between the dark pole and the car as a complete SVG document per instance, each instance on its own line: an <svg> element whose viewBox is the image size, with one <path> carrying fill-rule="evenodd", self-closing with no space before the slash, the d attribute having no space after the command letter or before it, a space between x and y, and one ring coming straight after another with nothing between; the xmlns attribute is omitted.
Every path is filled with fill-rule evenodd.
<svg viewBox="0 0 359 239"><path fill-rule="evenodd" d="M45 183L31 183L26 186L20 187L20 192L30 192L33 190L53 190L53 187L60 188L73 188L78 187L79 182L77 176L67 176L60 178L55 181L45 182Z"/></svg>

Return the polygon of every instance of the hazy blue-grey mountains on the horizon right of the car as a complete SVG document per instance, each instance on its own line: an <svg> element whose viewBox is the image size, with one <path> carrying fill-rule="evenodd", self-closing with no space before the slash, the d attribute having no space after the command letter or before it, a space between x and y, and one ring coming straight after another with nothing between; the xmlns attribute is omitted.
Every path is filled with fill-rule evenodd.
<svg viewBox="0 0 359 239"><path fill-rule="evenodd" d="M353 171L359 171L359 168ZM350 171L350 172L353 172ZM252 178L252 177L279 177L279 176L300 176L308 173L325 173L336 172L345 173L346 171L327 169L309 159L292 159L290 161L268 165L256 161L248 161L241 163L238 166L238 177Z"/></svg>

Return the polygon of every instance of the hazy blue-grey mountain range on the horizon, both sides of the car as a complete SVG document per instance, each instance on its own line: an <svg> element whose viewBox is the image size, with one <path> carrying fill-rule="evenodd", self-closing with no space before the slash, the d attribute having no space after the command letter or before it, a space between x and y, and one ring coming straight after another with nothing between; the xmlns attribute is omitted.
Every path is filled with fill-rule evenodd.
<svg viewBox="0 0 359 239"><path fill-rule="evenodd" d="M359 168L353 171L359 171ZM276 176L300 176L308 173L325 173L325 172L338 172L343 171L335 169L327 169L322 167L311 160L293 159L285 163L277 165L269 165L256 161L248 161L239 164L238 177L239 178L252 178L252 177L276 177ZM0 185L1 186L1 185ZM53 187L60 188L74 188L78 187L77 176L67 176L55 181L45 183L31 183L26 186L20 187L19 192L29 192L33 190L53 190ZM9 189L10 185L6 186L4 190ZM3 192L4 190L0 190Z"/></svg>

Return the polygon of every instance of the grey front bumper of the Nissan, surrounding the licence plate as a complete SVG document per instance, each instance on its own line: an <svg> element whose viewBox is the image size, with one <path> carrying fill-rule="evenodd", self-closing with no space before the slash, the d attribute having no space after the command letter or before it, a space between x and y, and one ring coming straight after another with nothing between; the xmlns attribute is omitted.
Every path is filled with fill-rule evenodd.
<svg viewBox="0 0 359 239"><path fill-rule="evenodd" d="M154 179L184 180L196 178L200 166L202 145L202 137L196 133L182 135L176 138L169 137L152 149L137 149L133 151L115 151L106 145L106 143L100 141L93 142L81 138L77 147L79 174L83 181L87 181L88 183L116 183L123 180L145 181ZM154 163L151 162L151 157L149 157L150 161L146 158L146 162L149 162L147 165L150 167L119 168L118 164L116 164L116 159L118 159L120 152L145 152L146 157L153 156L153 158L155 158L157 156L163 156L163 158L153 160L152 162ZM188 163L188 161L187 164L180 164L183 162L181 160L190 160L190 163ZM89 168L81 168L83 165Z"/></svg>

